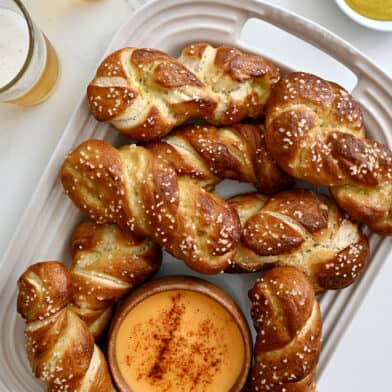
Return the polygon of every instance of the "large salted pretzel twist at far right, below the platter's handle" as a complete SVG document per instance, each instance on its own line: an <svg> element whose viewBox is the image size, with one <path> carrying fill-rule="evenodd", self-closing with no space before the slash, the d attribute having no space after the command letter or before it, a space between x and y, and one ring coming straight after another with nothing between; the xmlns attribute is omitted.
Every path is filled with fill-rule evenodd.
<svg viewBox="0 0 392 392"><path fill-rule="evenodd" d="M392 235L392 152L365 138L359 104L342 87L292 73L268 102L266 143L292 176L331 187L337 203Z"/></svg>

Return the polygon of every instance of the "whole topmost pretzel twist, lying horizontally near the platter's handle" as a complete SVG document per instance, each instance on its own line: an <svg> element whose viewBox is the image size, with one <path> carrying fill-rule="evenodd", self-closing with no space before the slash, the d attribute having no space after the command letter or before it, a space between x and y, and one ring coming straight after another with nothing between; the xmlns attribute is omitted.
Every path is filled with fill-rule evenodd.
<svg viewBox="0 0 392 392"><path fill-rule="evenodd" d="M184 49L180 61L155 49L112 53L87 88L92 115L144 141L169 133L191 117L217 124L258 117L279 80L279 69L260 56L233 48L207 44L193 48ZM201 71L203 79L192 71Z"/></svg>

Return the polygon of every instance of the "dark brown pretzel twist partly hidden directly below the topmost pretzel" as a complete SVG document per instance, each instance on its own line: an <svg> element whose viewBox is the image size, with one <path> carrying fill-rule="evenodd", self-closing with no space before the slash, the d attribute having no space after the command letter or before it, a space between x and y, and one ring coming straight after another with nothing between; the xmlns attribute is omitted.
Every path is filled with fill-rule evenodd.
<svg viewBox="0 0 392 392"><path fill-rule="evenodd" d="M262 126L189 125L145 147L170 162L177 174L192 177L208 191L225 178L251 182L264 193L293 184L269 154Z"/></svg>

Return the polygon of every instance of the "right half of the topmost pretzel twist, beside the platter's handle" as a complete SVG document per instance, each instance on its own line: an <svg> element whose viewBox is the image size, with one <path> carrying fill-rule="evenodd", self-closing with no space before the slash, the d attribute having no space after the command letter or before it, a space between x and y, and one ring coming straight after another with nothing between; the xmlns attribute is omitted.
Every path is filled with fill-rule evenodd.
<svg viewBox="0 0 392 392"><path fill-rule="evenodd" d="M270 61L230 46L196 43L185 47L178 60L212 90L218 104L206 120L216 125L260 117L280 79L279 69Z"/></svg>

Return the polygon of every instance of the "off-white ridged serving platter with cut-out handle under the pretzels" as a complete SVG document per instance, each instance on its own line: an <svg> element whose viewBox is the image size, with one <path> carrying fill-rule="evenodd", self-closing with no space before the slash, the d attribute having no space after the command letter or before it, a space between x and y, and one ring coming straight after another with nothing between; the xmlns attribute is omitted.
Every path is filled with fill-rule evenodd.
<svg viewBox="0 0 392 392"><path fill-rule="evenodd" d="M250 18L264 20L288 31L344 64L357 77L353 95L362 104L368 133L392 146L392 80L366 56L324 28L284 9L256 0L155 0L135 12L115 35L107 53L124 46L153 47L174 55L191 42L229 44L259 53L277 63L283 72L292 66L264 53L263 40L243 39L242 30ZM255 44L255 41L256 44ZM282 42L281 45L285 45ZM312 64L317 71L317 64ZM315 72L316 72L315 71ZM325 75L323 75L325 76ZM16 281L29 264L57 259L70 262L70 234L82 215L65 196L59 170L65 155L89 138L104 138L116 145L126 140L109 125L89 115L85 97L72 116L42 176L37 191L0 262L0 391L41 391L33 377L24 349L24 322L16 314ZM252 189L249 185L226 182L219 187L223 196ZM319 377L350 320L360 306L382 264L391 259L392 238L370 235L372 261L355 285L322 296L324 343ZM389 260L391 261L391 260ZM201 276L182 262L165 254L160 275ZM249 318L247 292L259 274L202 276L229 292Z"/></svg>

